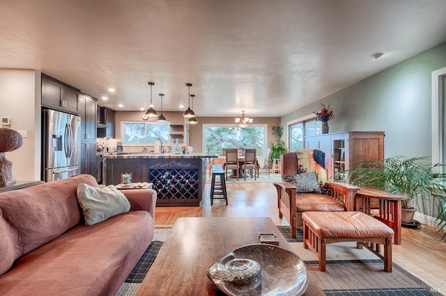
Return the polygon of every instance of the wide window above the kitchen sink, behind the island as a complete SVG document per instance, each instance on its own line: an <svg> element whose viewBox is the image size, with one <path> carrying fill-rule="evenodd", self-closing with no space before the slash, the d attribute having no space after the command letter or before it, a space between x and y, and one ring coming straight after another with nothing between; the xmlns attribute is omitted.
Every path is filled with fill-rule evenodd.
<svg viewBox="0 0 446 296"><path fill-rule="evenodd" d="M121 122L123 145L152 145L160 138L169 142L170 122Z"/></svg>

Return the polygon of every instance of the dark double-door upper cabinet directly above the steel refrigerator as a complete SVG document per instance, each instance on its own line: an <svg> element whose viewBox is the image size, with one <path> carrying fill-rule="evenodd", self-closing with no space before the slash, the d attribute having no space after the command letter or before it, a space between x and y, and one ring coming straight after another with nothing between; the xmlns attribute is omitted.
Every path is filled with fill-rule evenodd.
<svg viewBox="0 0 446 296"><path fill-rule="evenodd" d="M72 88L56 79L42 74L42 105L70 113L78 113L78 93L80 90Z"/></svg>

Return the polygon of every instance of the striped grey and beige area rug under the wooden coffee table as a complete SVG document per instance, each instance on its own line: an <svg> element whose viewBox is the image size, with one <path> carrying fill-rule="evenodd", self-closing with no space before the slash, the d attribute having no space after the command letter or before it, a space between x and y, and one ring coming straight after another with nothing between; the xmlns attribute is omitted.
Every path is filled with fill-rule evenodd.
<svg viewBox="0 0 446 296"><path fill-rule="evenodd" d="M393 272L383 271L383 261L367 249L356 249L354 242L331 244L327 247L327 270L318 270L318 261L309 249L302 247L302 229L298 237L289 235L289 227L277 227L293 250L305 261L318 286L332 296L344 295L441 295L417 277L393 263ZM116 295L136 295L148 269L155 261L162 242L169 236L170 227L155 227L155 236L128 279Z"/></svg>

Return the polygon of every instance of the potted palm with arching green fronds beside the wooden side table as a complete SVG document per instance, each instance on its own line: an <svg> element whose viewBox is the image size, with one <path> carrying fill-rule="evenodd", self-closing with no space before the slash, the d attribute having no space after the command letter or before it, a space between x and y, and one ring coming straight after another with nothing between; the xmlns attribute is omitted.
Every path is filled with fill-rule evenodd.
<svg viewBox="0 0 446 296"><path fill-rule="evenodd" d="M417 199L445 202L446 174L440 173L440 166L431 165L427 157L405 158L393 156L384 161L364 161L357 167L344 171L347 182L355 186L370 186L396 195L406 195L401 201L403 226L413 226Z"/></svg>

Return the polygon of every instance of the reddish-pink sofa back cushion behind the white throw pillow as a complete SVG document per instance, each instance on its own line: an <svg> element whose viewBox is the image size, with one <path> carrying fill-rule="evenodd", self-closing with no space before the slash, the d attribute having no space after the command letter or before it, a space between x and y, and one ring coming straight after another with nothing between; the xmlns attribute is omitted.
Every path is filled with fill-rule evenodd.
<svg viewBox="0 0 446 296"><path fill-rule="evenodd" d="M6 233L1 239L12 244L13 261L79 224L82 217L76 199L79 183L98 186L93 176L79 175L0 193L0 224L6 223L6 231L3 230ZM11 254L10 244L1 243L0 254ZM1 263L0 274L13 261L7 258L8 263Z"/></svg>

